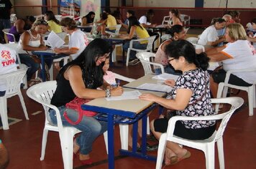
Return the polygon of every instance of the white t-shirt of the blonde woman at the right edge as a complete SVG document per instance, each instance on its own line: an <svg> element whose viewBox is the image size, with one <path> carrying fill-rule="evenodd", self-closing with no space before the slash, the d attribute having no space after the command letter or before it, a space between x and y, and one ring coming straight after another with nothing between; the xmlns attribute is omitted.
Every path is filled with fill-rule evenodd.
<svg viewBox="0 0 256 169"><path fill-rule="evenodd" d="M222 61L225 71L256 68L256 50L247 40L228 43L221 53L230 57ZM256 80L256 72L234 72L233 74L250 84Z"/></svg>

